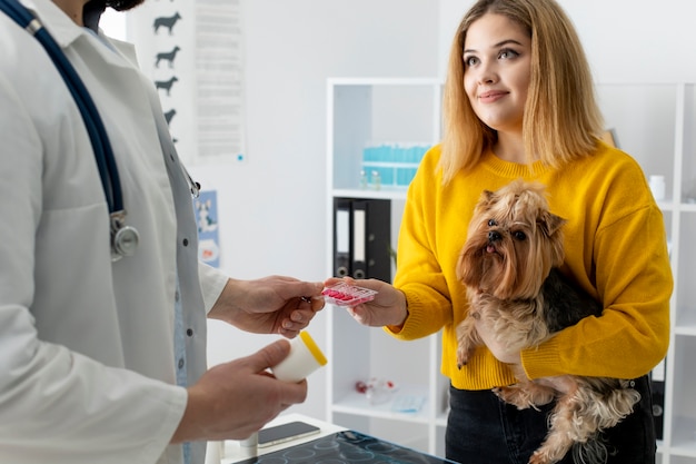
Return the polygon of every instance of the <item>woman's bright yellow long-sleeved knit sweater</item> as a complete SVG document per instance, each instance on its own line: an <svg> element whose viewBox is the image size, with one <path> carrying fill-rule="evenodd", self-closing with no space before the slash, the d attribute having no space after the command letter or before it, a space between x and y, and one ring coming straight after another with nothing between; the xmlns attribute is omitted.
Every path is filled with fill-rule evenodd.
<svg viewBox="0 0 696 464"><path fill-rule="evenodd" d="M669 343L672 270L662 211L633 158L599 144L593 156L561 169L540 164L529 169L487 154L471 172L443 187L439 156L439 146L426 154L408 190L395 286L406 294L409 316L400 330L387 332L415 339L443 329L441 372L457 388L515 382L485 347L457 368L455 328L467 302L456 264L481 190L521 177L544 184L551 211L568 219L563 270L605 307L601 317L583 319L524 351L527 375L635 378L659 363Z"/></svg>

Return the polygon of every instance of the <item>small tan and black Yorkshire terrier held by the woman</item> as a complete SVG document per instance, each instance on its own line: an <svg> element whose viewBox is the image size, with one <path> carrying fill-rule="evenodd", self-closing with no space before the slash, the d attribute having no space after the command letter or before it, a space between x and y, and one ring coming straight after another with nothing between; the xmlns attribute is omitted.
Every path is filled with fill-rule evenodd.
<svg viewBox="0 0 696 464"><path fill-rule="evenodd" d="M601 306L558 270L564 224L549 211L538 184L516 180L481 194L457 264L469 300L468 317L457 327L459 368L484 344L476 320L510 351L520 351L601 314ZM538 409L556 399L548 434L530 464L556 463L569 450L576 463L606 463L600 432L629 415L640 399L628 381L578 375L530 381L521 365L510 368L518 383L494 388L503 401Z"/></svg>

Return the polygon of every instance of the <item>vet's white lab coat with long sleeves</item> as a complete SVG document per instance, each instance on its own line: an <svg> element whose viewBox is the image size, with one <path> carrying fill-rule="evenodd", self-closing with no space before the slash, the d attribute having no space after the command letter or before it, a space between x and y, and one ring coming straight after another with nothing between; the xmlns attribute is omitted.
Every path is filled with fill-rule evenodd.
<svg viewBox="0 0 696 464"><path fill-rule="evenodd" d="M132 48L109 50L50 0L22 2L90 89L140 245L111 263L81 116L40 45L0 13L0 462L179 463L168 446L187 399L175 386L177 273L191 382L226 277L197 268L188 186Z"/></svg>

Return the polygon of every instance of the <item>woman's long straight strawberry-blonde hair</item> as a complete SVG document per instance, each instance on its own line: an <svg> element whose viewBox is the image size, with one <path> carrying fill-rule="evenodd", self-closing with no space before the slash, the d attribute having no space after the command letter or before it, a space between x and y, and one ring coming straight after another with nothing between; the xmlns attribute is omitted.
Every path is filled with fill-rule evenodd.
<svg viewBox="0 0 696 464"><path fill-rule="evenodd" d="M497 139L478 119L464 90L464 42L474 21L486 13L517 22L531 39L531 66L523 139L528 162L560 165L593 152L603 131L591 73L580 40L554 0L479 0L465 14L451 45L443 96L443 155L447 184L471 169Z"/></svg>

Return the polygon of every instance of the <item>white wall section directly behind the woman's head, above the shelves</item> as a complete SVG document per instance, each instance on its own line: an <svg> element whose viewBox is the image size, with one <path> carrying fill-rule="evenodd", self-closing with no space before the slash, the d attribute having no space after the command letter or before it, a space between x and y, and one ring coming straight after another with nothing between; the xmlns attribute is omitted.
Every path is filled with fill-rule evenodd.
<svg viewBox="0 0 696 464"><path fill-rule="evenodd" d="M598 82L696 80L696 3L690 0L558 0ZM473 0L439 0L440 55ZM441 61L440 70L444 70Z"/></svg>

